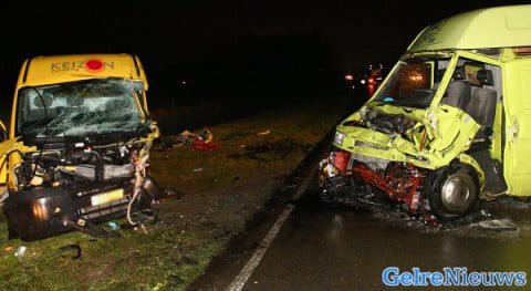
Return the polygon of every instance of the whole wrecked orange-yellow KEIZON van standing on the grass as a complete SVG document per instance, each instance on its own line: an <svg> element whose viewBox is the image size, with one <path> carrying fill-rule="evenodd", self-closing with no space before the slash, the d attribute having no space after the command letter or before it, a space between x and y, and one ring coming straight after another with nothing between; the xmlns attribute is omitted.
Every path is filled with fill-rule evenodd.
<svg viewBox="0 0 531 291"><path fill-rule="evenodd" d="M27 60L9 134L0 127L0 199L9 236L34 240L132 214L156 199L148 176L148 83L128 54Z"/></svg>

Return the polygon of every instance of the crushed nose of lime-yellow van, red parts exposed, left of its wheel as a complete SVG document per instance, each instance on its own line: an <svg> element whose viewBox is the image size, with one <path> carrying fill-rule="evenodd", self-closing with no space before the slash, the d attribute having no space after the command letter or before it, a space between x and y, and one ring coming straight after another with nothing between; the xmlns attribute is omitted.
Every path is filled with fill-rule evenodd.
<svg viewBox="0 0 531 291"><path fill-rule="evenodd" d="M420 128L418 122L405 114L386 114L367 107L360 114L339 126L334 149L321 162L323 200L369 202L376 190L412 212L428 209L421 199L428 169L418 166L427 164L428 158L420 155L412 158L393 149L394 143L408 141L406 132L412 133L416 126ZM428 138L427 132L423 127L417 135L421 149ZM397 138L400 141L395 141Z"/></svg>

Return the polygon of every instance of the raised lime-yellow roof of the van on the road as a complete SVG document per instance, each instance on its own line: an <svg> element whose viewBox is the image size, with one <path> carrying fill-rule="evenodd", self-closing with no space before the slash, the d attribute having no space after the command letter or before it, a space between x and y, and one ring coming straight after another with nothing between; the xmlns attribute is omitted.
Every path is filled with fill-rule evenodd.
<svg viewBox="0 0 531 291"><path fill-rule="evenodd" d="M407 52L531 45L531 4L465 12L427 27Z"/></svg>

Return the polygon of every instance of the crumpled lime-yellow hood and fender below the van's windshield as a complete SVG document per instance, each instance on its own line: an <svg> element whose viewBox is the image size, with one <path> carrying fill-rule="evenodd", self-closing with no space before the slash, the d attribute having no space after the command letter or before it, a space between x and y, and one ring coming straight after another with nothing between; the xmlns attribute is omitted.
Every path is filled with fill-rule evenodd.
<svg viewBox="0 0 531 291"><path fill-rule="evenodd" d="M379 124L385 116L389 122L404 122L410 118L413 123L403 132L375 126L367 118L377 111ZM404 115L399 116L399 115ZM403 128L398 124L396 128ZM395 162L408 162L418 167L438 168L449 164L466 152L480 126L464 111L440 105L434 112L416 108L399 108L389 105L364 106L336 127L340 138L334 146L355 154L383 158ZM343 136L342 136L343 135Z"/></svg>

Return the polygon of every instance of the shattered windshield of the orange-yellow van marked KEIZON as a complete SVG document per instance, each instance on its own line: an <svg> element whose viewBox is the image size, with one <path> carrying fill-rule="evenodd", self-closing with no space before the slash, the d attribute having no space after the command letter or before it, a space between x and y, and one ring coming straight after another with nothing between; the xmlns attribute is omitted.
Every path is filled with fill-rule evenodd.
<svg viewBox="0 0 531 291"><path fill-rule="evenodd" d="M119 79L25 87L19 93L17 131L34 137L135 132L143 125L138 87L142 83Z"/></svg>

